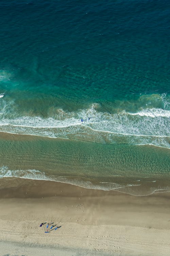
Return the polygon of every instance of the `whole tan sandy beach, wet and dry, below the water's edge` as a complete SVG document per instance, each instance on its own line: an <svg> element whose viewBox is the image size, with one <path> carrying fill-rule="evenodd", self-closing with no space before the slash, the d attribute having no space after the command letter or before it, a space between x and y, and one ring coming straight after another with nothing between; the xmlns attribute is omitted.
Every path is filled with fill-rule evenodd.
<svg viewBox="0 0 170 256"><path fill-rule="evenodd" d="M170 255L170 193L0 180L0 255ZM46 224L61 226L50 233Z"/></svg>

